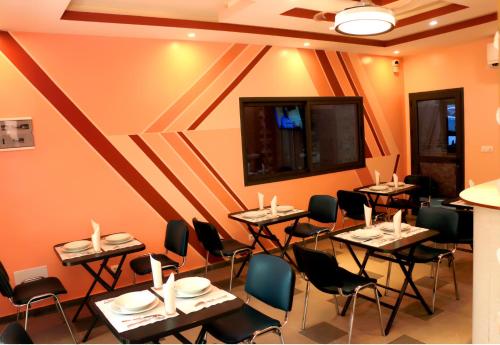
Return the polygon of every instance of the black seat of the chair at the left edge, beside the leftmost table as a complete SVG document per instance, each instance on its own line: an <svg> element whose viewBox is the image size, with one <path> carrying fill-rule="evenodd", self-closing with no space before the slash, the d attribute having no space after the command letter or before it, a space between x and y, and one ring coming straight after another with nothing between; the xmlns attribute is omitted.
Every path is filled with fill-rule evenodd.
<svg viewBox="0 0 500 345"><path fill-rule="evenodd" d="M47 293L61 295L67 291L56 277L41 278L17 285L14 288L12 301L17 305L23 305L28 303L31 298Z"/></svg>

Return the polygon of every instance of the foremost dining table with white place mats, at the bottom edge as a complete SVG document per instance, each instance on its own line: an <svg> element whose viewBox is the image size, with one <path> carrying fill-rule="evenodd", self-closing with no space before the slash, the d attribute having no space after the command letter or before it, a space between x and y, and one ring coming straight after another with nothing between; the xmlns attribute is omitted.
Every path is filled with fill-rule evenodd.
<svg viewBox="0 0 500 345"><path fill-rule="evenodd" d="M215 289L215 291L210 293L219 294L218 296L222 293L224 297L222 299L212 298L209 293L193 299L176 298L177 308L171 316L165 313L165 300L161 290L154 289L151 282L92 296L90 308L99 319L104 321L107 328L121 343L159 343L161 338L174 336L180 342L189 344L192 341L182 332L201 326L200 332L196 340L194 340L194 343L200 344L204 342L205 324L235 312L244 305L243 300L231 293L216 287L211 288ZM152 293L158 298L159 304L155 309L146 313L115 315L109 312L109 306L112 305L116 298L131 292ZM203 301L207 301L207 304L204 305ZM191 303L191 305L188 306L188 303ZM193 308L197 304L199 306ZM134 328L131 328L131 325Z"/></svg>

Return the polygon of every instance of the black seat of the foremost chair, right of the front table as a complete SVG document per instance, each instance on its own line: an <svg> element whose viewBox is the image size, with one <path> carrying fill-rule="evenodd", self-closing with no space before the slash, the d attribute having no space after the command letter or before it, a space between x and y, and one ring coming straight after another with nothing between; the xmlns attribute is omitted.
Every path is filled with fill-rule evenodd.
<svg viewBox="0 0 500 345"><path fill-rule="evenodd" d="M273 326L280 327L281 324L247 304L237 312L206 325L207 331L212 336L226 344L241 343L252 337L255 331Z"/></svg>

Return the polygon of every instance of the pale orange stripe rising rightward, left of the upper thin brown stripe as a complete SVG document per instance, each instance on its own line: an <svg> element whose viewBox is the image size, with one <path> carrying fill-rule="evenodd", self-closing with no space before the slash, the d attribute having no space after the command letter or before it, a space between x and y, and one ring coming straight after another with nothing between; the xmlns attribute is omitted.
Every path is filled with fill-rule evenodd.
<svg viewBox="0 0 500 345"><path fill-rule="evenodd" d="M246 44L234 44L227 50L217 62L172 106L170 106L147 130L146 132L161 132L173 121L176 115L186 109L193 100L206 89L229 64L247 47Z"/></svg>

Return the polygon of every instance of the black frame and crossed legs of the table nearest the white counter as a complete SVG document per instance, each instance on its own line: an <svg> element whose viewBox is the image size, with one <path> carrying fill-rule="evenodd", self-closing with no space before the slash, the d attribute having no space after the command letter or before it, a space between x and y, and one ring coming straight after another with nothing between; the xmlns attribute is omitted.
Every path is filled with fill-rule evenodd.
<svg viewBox="0 0 500 345"><path fill-rule="evenodd" d="M417 299L420 302L420 304L422 304L425 311L429 315L431 315L432 314L431 308L429 307L427 302L425 302L422 294L420 293L417 286L415 285L415 282L413 281L412 273L413 273L413 268L415 267L415 261L412 259L413 259L413 254L415 252L416 246L418 244L425 242L425 241L428 241L432 237L438 235L439 232L434 231L434 230L428 230L428 231L418 233L418 234L415 234L415 235L407 237L407 238L402 238L402 239L397 240L395 242L386 244L382 247L372 247L372 246L369 246L369 245L366 245L363 243L351 241L349 239L335 237L335 235L337 235L339 233L348 232L348 231L352 231L352 228L347 229L347 230L342 230L340 232L336 232L335 234L331 234L330 238L332 240L342 242L346 245L347 249L349 250L349 253L353 257L354 261L356 262L356 265L359 268L359 273L358 273L359 275L363 275L363 276L369 278L368 273L365 270L366 264L368 263L368 259L370 257L375 257L375 258L379 258L382 260L397 263L399 265L399 267L401 268L401 270L403 271L403 274L405 276L405 280L404 280L403 285L401 286L400 290L395 289L395 288L391 288L390 286L386 286L386 285L377 283L377 286L380 286L380 287L386 288L388 290L395 291L395 292L399 293L395 304L390 304L390 303L387 303L384 301L380 301L380 304L382 306L392 310L391 315L389 317L389 320L387 321L387 325L385 327L385 334L386 335L389 334L389 332L392 328L392 324L394 322L394 319L396 318L396 315L399 311L399 307L401 306L401 302L403 301L404 296L408 296L408 297ZM352 246L361 247L361 248L366 250L363 261L360 261L358 259ZM410 249L410 253L409 253L409 256L407 257L406 260L403 260L402 258L398 257L397 255L394 255L396 252L403 250L403 249L408 249L408 248ZM386 255L382 255L382 254L386 254ZM392 256L387 256L387 254L391 254ZM408 285L410 285L412 287L414 294L410 294L410 293L406 292ZM380 294L380 292L379 292L379 294ZM375 299L372 297L369 297L369 296L366 296L363 294L358 294L358 296L365 298L365 299L368 299L372 302L375 302ZM344 308L342 309L342 313L341 313L342 316L344 316L346 314L347 309L349 308L349 304L351 303L351 299L352 299L352 297L348 297L348 299L346 300Z"/></svg>

